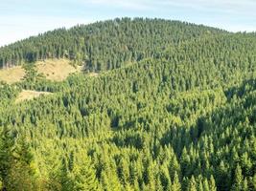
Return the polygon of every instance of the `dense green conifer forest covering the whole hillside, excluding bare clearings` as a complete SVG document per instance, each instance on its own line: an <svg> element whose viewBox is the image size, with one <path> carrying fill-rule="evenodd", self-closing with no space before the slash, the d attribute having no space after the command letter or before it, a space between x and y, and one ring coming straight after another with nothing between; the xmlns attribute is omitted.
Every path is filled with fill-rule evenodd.
<svg viewBox="0 0 256 191"><path fill-rule="evenodd" d="M36 74L62 57L84 72ZM114 19L2 47L0 67L16 65L24 80L0 82L1 190L256 190L255 33ZM22 89L54 94L16 104Z"/></svg>

